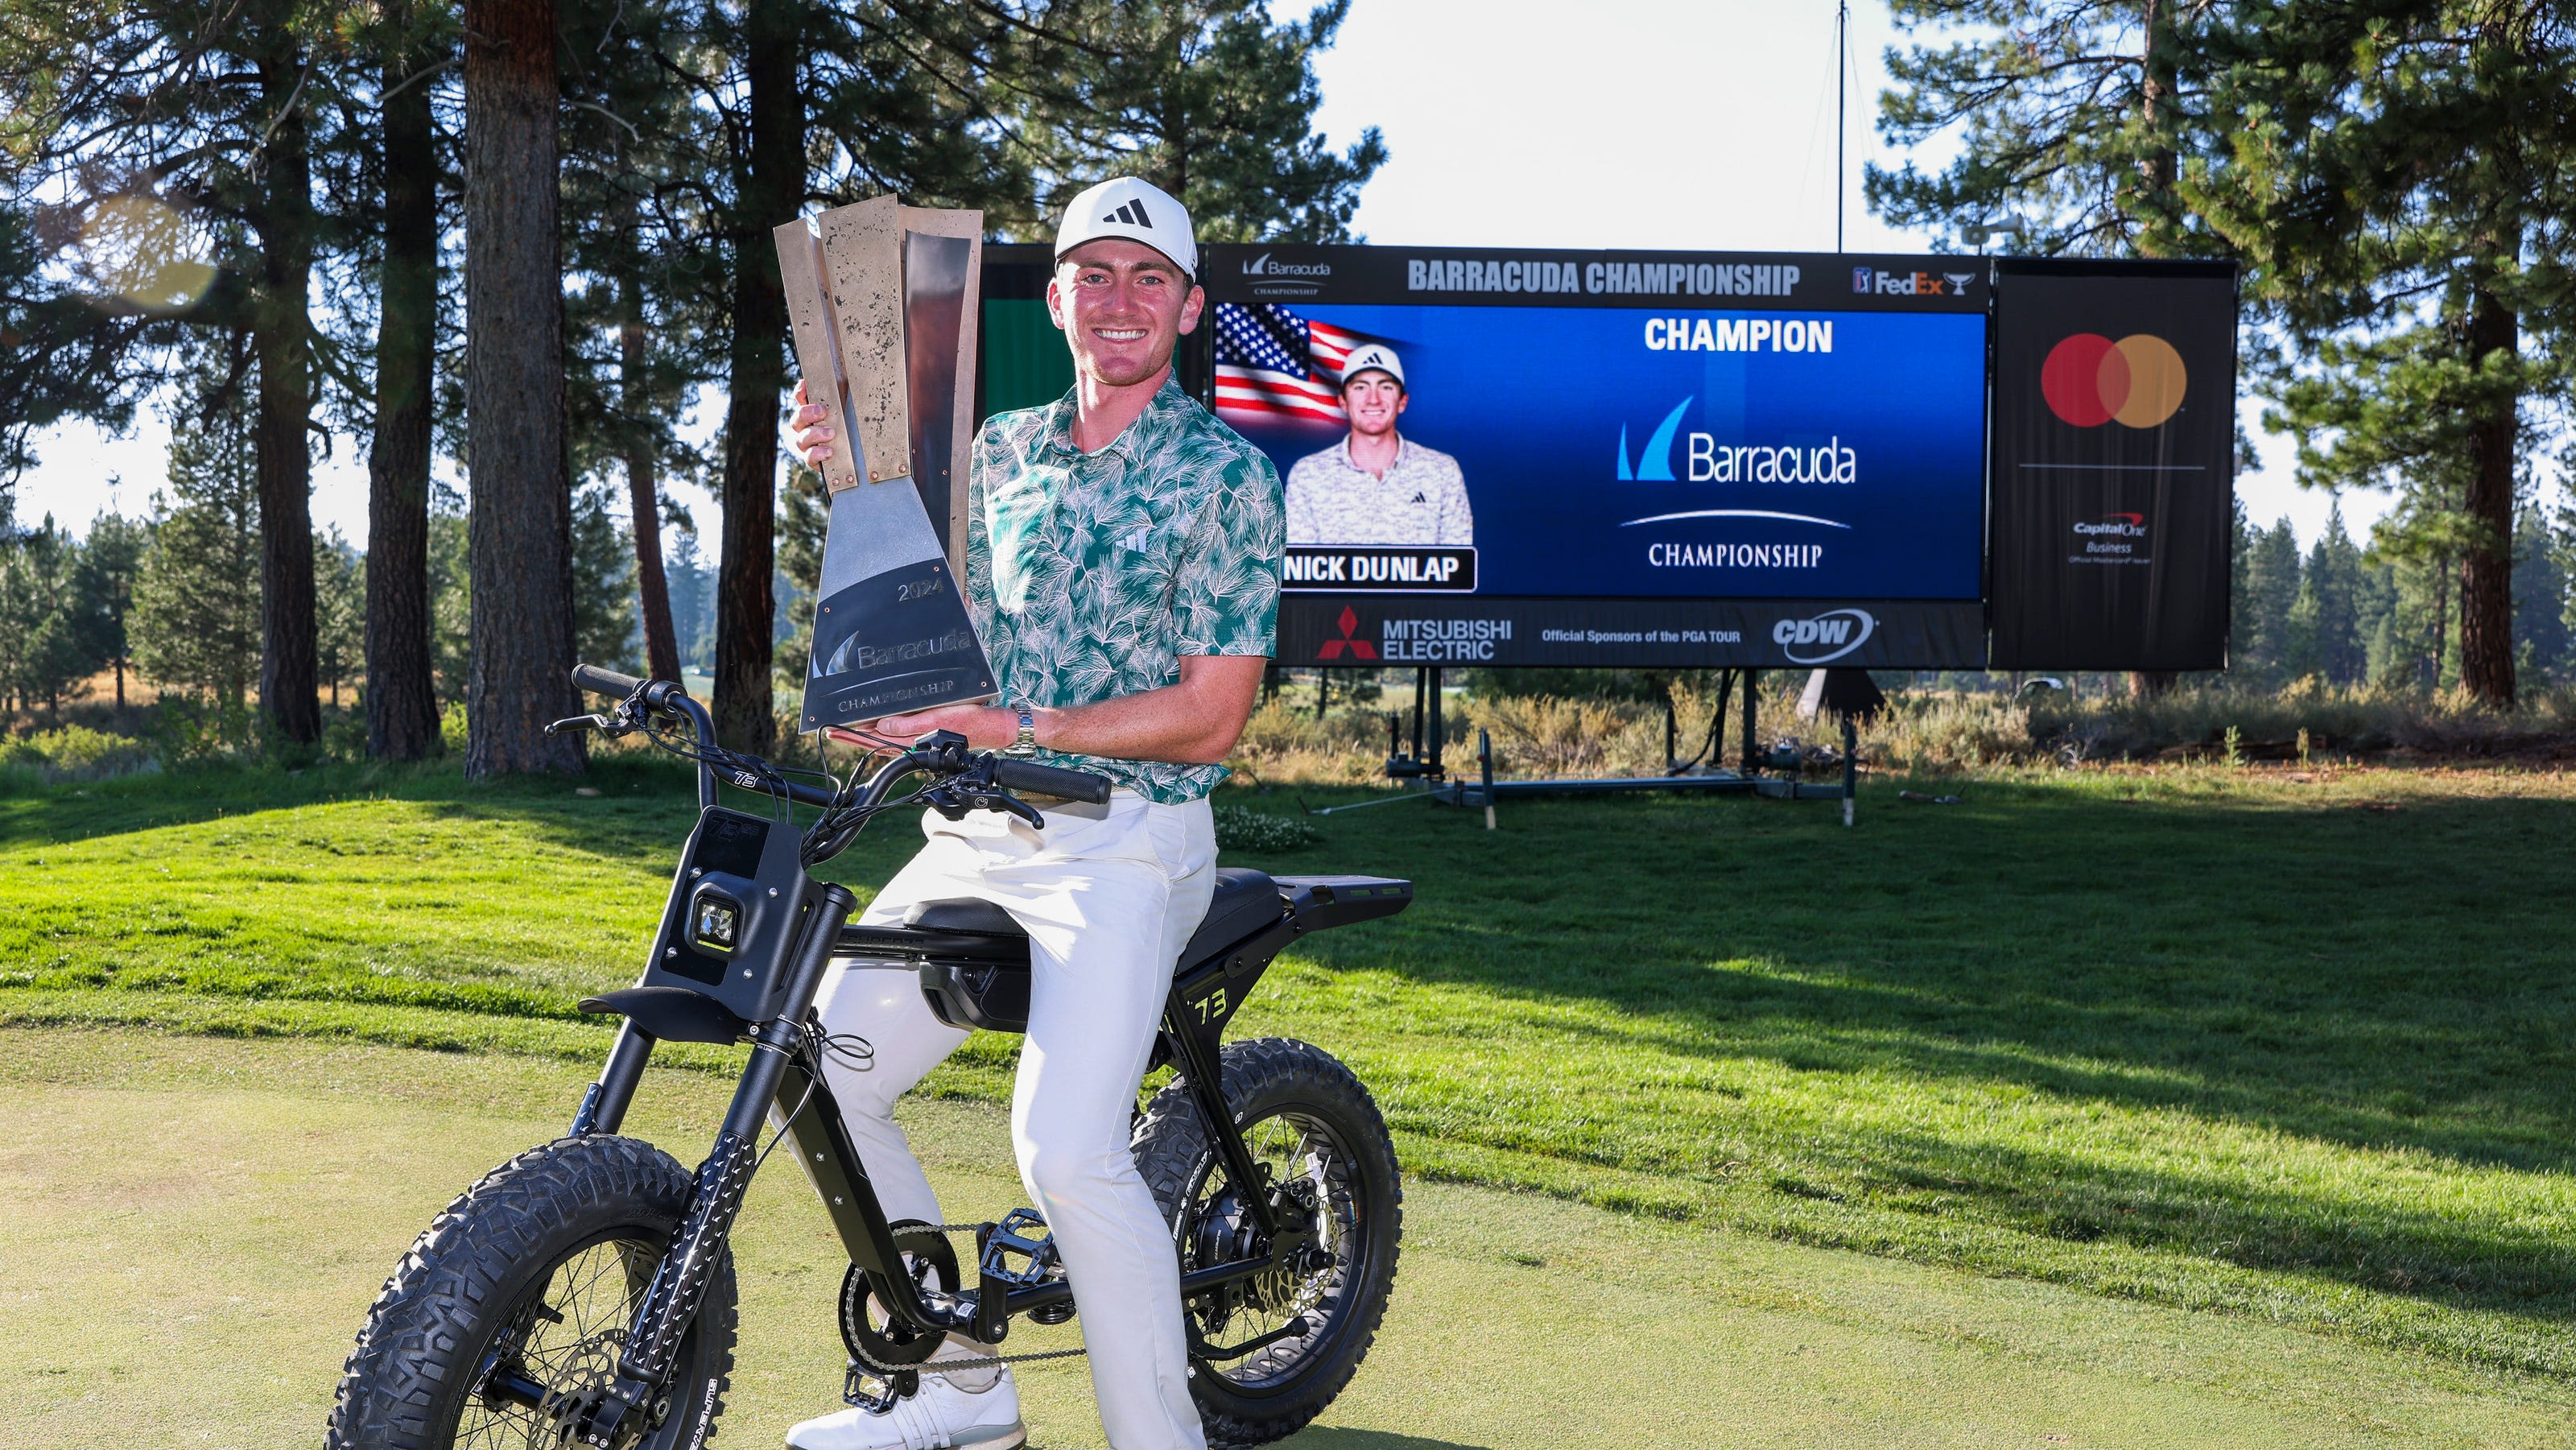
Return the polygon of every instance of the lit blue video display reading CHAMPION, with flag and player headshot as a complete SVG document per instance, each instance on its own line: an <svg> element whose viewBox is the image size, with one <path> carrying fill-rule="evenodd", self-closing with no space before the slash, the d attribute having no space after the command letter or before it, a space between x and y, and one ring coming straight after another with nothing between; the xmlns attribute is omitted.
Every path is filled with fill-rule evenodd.
<svg viewBox="0 0 2576 1450"><path fill-rule="evenodd" d="M1211 402L1285 479L1291 590L1973 600L1986 317L1865 273L1793 306L1239 296Z"/></svg>

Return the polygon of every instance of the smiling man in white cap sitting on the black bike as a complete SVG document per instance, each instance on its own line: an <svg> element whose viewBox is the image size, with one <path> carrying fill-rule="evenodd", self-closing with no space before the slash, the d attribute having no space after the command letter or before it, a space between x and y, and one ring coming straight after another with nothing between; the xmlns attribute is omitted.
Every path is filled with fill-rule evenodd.
<svg viewBox="0 0 2576 1450"><path fill-rule="evenodd" d="M1128 1120L1175 958L1216 891L1208 791L1252 716L1283 554L1270 461L1172 381L1172 348L1206 304L1195 270L1190 216L1144 180L1100 183L1064 211L1046 309L1074 353L1074 391L987 420L966 482L966 598L1002 701L878 724L1095 770L1115 780L1110 801L1043 804L1043 832L992 811L925 814L930 842L863 917L889 925L914 901L979 896L1028 930L1010 1136L1074 1283L1118 1450L1206 1445L1180 1257L1128 1156ZM796 410L806 461L832 448L824 417ZM817 1010L876 1048L860 1069L827 1071L886 1213L940 1223L894 1100L966 1033L930 1015L909 971L845 966ZM940 1350L979 1355L992 1350ZM1025 1437L1020 1393L997 1368L925 1373L922 1393L884 1417L845 1409L788 1429L796 1450L1007 1450Z"/></svg>

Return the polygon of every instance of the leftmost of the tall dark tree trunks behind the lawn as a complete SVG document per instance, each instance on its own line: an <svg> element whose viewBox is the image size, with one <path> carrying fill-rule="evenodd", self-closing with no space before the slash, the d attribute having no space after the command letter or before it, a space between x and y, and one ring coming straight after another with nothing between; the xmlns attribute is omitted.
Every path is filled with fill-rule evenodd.
<svg viewBox="0 0 2576 1450"><path fill-rule="evenodd" d="M304 57L283 49L260 62L268 144L260 167L260 358L258 453L260 487L260 708L291 742L322 739L314 698L314 525L312 451L312 152L304 129Z"/></svg>

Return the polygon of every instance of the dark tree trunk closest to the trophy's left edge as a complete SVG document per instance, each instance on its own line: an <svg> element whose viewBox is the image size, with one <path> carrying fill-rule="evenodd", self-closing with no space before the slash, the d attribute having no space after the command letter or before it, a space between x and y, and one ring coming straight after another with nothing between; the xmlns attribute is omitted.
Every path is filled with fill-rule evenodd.
<svg viewBox="0 0 2576 1450"><path fill-rule="evenodd" d="M801 0L752 0L752 155L734 216L732 407L724 412L724 561L716 572L716 739L768 752L778 507L778 394L786 384L786 288L770 227L804 201L804 98L796 93Z"/></svg>

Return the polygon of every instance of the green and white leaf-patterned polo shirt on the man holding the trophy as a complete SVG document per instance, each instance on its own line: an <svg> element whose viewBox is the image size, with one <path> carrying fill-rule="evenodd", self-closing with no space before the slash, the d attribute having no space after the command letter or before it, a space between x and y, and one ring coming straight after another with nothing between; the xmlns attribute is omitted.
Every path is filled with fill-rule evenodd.
<svg viewBox="0 0 2576 1450"><path fill-rule="evenodd" d="M1182 654L1270 654L1285 554L1280 476L1164 381L1097 453L1074 394L997 412L966 476L966 603L1005 703L1087 706L1180 683ZM1198 801L1224 765L1038 760L1149 801Z"/></svg>

